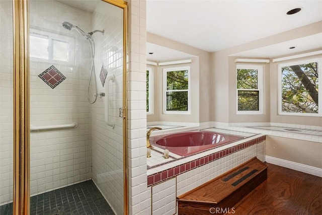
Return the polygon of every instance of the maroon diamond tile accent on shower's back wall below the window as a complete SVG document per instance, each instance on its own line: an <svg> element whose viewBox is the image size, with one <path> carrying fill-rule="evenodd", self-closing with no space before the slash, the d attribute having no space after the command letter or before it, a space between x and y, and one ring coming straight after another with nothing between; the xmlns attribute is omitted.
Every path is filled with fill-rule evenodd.
<svg viewBox="0 0 322 215"><path fill-rule="evenodd" d="M66 77L62 75L60 71L58 71L58 69L53 65L47 68L38 77L41 78L52 89L57 87L62 81L66 79Z"/></svg>

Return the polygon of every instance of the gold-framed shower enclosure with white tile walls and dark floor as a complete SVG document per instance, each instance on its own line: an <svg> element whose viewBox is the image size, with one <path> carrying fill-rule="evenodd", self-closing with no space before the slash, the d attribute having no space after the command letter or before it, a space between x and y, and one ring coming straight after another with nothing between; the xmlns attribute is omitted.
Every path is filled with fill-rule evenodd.
<svg viewBox="0 0 322 215"><path fill-rule="evenodd" d="M23 204L29 199L21 193L28 192L31 214L81 213L83 209L94 213L92 204L97 211L102 209L98 195L114 213L127 213L126 116L120 114L126 113L126 3L14 2L26 4L29 10L21 19L24 25L13 15L19 6L12 0L0 1L0 214L26 210ZM21 37L29 41L25 59L18 56L26 62L27 73L20 72L29 75L20 76L21 82L16 82L13 72L19 64L13 54L19 40L13 33L17 23L29 33ZM17 86L28 95L13 103ZM26 111L18 116L15 110L21 103ZM16 137L24 133L14 126L18 119L30 122L23 128L28 130L23 140ZM24 159L13 157L17 151L23 151ZM21 168L25 177L17 176L16 169ZM25 187L17 187L17 180ZM19 189L23 189L20 194ZM75 201L72 205L64 202L64 198L71 201L68 192ZM79 197L84 194L78 199L81 207L73 192ZM48 206L46 196L55 202Z"/></svg>

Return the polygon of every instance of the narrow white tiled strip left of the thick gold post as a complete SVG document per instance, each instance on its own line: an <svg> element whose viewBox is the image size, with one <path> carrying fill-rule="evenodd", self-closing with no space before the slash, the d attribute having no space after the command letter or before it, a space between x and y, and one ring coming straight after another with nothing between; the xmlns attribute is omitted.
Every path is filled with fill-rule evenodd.
<svg viewBox="0 0 322 215"><path fill-rule="evenodd" d="M0 205L13 199L12 1L0 2Z"/></svg>

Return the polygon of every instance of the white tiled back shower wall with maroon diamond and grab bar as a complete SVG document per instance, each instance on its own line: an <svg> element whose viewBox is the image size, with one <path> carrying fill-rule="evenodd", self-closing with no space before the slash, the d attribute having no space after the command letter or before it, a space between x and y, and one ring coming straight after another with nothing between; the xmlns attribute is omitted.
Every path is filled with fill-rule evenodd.
<svg viewBox="0 0 322 215"><path fill-rule="evenodd" d="M85 37L62 27L64 21L90 31L91 14L56 1L30 1L30 28L73 37L76 61L72 65L30 61L30 124L77 122L73 129L30 133L31 195L91 179L90 105L87 80L91 62ZM66 79L51 89L38 75L54 65Z"/></svg>

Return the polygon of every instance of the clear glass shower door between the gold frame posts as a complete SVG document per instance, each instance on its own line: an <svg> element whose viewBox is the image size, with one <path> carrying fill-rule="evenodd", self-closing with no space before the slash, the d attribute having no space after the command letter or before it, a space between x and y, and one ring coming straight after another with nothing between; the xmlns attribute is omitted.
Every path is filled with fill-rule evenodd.
<svg viewBox="0 0 322 215"><path fill-rule="evenodd" d="M31 214L124 213L123 10L108 2L29 1Z"/></svg>

